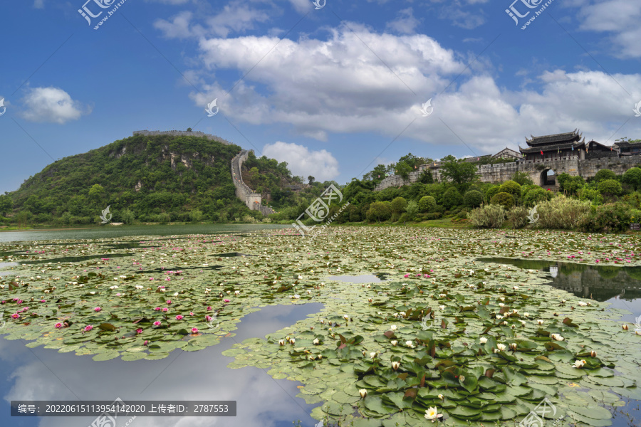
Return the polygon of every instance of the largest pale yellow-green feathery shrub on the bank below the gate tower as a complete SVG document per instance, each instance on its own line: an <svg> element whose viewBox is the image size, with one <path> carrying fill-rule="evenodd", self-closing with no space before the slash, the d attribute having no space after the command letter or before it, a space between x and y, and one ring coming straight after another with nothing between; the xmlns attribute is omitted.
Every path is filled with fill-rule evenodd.
<svg viewBox="0 0 641 427"><path fill-rule="evenodd" d="M550 201L538 204L536 211L538 212L537 226L569 230L578 226L582 218L589 214L590 204L559 195Z"/></svg>

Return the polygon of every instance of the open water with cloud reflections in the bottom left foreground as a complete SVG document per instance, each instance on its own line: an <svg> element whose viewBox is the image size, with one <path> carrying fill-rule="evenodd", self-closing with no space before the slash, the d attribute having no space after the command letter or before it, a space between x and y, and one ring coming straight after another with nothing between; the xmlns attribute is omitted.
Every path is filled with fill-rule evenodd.
<svg viewBox="0 0 641 427"><path fill-rule="evenodd" d="M248 337L264 337L264 334L292 325L296 320L304 318L308 313L317 312L321 307L320 304L265 307L261 312L244 317L234 339L241 342ZM31 349L32 353L24 344L21 340L0 339L0 359L4 365L0 374L4 374L6 369L9 378L4 384L0 383L6 401L76 401L78 399L74 394L83 401L113 401L120 397L125 403L134 400L163 399L235 400L236 417L137 417L130 425L289 427L292 421L297 420L301 420L303 426L316 424L309 416L313 406L306 405L302 399L294 401L290 397L298 394L299 383L286 379L274 380L266 371L254 367L226 368L233 358L224 357L221 352L234 344L232 339L224 339L222 344L200 352L177 351L165 359L135 362L123 362L119 359L94 362L90 356L63 354L55 349L43 347ZM34 354L46 363L51 371ZM175 362L172 362L174 359ZM271 368L266 370L269 369ZM61 381L67 384L73 393ZM11 382L14 384L11 385ZM145 391L141 394L143 389ZM118 427L124 426L129 419L119 417ZM26 418L21 418L21 421L23 420L26 421ZM87 427L92 421L93 417L43 417L29 418L28 423L24 425Z"/></svg>

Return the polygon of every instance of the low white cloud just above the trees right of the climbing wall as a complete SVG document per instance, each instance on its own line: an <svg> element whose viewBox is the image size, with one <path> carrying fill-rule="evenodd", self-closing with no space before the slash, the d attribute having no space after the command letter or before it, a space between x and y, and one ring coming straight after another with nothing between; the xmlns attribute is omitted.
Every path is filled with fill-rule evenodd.
<svg viewBox="0 0 641 427"><path fill-rule="evenodd" d="M304 179L311 175L316 181L328 181L338 176L338 160L325 149L310 151L303 145L278 141L266 144L263 154L287 162L291 173Z"/></svg>

